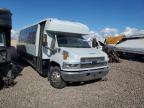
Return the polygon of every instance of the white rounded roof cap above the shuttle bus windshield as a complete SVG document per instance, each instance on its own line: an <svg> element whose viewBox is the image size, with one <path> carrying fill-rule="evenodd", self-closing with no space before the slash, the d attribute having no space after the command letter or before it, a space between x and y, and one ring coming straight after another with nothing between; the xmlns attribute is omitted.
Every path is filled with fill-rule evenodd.
<svg viewBox="0 0 144 108"><path fill-rule="evenodd" d="M53 32L68 32L68 33L76 33L76 34L89 34L89 28L79 22L59 20L56 18L46 18L38 23L35 23L31 26L37 25L39 23L46 22L45 30L53 31ZM31 27L27 26L27 27ZM25 27L25 28L27 28Z"/></svg>

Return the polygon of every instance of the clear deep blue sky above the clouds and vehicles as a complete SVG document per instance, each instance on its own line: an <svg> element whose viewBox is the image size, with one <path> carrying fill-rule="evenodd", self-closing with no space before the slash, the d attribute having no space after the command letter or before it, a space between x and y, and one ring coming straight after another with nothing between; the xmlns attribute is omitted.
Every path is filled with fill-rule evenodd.
<svg viewBox="0 0 144 108"><path fill-rule="evenodd" d="M144 0L0 0L13 13L13 29L44 18L79 21L99 31L126 27L144 29Z"/></svg>

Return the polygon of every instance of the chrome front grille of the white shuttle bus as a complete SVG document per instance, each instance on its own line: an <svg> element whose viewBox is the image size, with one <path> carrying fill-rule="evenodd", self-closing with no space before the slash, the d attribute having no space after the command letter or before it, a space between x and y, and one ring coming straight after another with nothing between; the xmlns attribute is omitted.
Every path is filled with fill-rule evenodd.
<svg viewBox="0 0 144 108"><path fill-rule="evenodd" d="M106 66L107 62L104 61L104 57L95 57L95 58L81 58L81 68L93 68Z"/></svg>

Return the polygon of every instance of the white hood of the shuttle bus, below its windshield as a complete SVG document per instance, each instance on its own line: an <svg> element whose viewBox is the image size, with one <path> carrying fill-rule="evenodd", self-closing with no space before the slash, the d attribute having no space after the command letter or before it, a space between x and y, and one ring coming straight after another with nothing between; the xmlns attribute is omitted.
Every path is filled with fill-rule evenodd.
<svg viewBox="0 0 144 108"><path fill-rule="evenodd" d="M63 50L78 57L103 57L106 54L96 48L62 48Z"/></svg>

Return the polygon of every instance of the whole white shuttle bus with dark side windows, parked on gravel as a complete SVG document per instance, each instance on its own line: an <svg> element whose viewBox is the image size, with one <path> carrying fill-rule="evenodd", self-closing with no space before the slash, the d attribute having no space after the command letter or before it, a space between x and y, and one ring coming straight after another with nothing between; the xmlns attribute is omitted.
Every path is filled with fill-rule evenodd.
<svg viewBox="0 0 144 108"><path fill-rule="evenodd" d="M46 19L20 30L17 52L58 89L68 82L103 78L108 56L84 40L89 28L78 22Z"/></svg>

